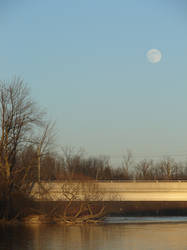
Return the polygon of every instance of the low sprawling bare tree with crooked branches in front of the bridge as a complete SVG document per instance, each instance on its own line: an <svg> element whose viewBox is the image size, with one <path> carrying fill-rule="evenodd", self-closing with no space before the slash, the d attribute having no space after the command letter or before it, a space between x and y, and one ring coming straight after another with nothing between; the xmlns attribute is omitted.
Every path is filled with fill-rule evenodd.
<svg viewBox="0 0 187 250"><path fill-rule="evenodd" d="M57 223L97 222L105 213L103 192L96 181L36 183L33 196L54 201L47 216Z"/></svg>

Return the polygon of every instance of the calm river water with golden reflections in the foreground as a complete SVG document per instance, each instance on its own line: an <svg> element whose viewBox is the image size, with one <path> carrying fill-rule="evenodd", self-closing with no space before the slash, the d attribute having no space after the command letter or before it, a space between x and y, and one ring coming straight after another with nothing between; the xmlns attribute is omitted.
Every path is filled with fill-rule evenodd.
<svg viewBox="0 0 187 250"><path fill-rule="evenodd" d="M1 250L186 250L187 217L112 217L99 225L0 227Z"/></svg>

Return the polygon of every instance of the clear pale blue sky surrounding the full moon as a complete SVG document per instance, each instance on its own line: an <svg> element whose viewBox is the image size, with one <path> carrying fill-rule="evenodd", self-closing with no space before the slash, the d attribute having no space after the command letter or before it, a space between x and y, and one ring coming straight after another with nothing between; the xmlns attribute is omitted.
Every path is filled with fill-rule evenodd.
<svg viewBox="0 0 187 250"><path fill-rule="evenodd" d="M0 0L1 79L25 79L61 145L186 159L186 13L185 0Z"/></svg>

